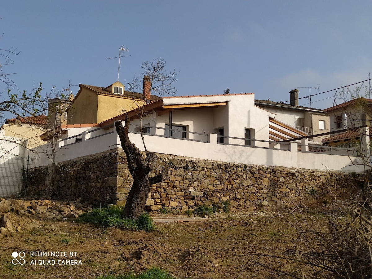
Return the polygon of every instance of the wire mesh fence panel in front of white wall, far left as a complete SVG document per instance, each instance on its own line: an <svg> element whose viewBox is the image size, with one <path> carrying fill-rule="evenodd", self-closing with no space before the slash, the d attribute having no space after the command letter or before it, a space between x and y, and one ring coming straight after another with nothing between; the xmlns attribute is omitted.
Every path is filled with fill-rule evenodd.
<svg viewBox="0 0 372 279"><path fill-rule="evenodd" d="M0 197L26 192L28 170L38 166L38 159L29 157L0 157Z"/></svg>

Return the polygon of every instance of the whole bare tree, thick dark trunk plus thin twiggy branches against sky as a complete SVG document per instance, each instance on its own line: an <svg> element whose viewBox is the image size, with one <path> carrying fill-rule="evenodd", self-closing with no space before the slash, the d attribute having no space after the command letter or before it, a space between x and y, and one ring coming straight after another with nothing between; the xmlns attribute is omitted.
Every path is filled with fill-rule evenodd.
<svg viewBox="0 0 372 279"><path fill-rule="evenodd" d="M176 81L176 75L178 73L176 73L175 69L168 72L165 65L166 62L161 58L157 58L151 62L144 62L141 65L143 69L141 76L144 75L144 82L150 82L150 86L144 88L145 97L143 102L138 103L138 116L140 118L140 131L145 148L145 156L142 155L140 150L129 140L128 129L130 116L128 113L125 116L124 126L121 121L115 122L116 131L118 132L122 148L124 149L128 161L128 169L133 178L133 184L123 211L124 218L138 218L142 214L151 185L162 182L169 170L168 167L164 167L160 174L151 178L148 177L148 174L154 169L158 156L153 152L147 151L142 131L142 118L145 111L144 106L147 101L150 101L150 97L147 93L157 93L160 96L174 95L176 93L176 89L172 84ZM139 81L140 77L135 77L131 83L128 83L129 90L139 90Z"/></svg>

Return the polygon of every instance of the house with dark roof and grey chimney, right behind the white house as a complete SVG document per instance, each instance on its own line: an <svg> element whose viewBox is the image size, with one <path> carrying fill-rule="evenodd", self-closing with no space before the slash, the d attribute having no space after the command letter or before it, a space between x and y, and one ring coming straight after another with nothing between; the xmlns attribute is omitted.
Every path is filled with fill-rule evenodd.
<svg viewBox="0 0 372 279"><path fill-rule="evenodd" d="M298 89L289 92L290 103L255 100L254 104L273 113L274 119L299 129L308 135L316 135L329 131L330 120L322 109L308 108L298 105ZM323 137L313 137L312 141L321 143Z"/></svg>

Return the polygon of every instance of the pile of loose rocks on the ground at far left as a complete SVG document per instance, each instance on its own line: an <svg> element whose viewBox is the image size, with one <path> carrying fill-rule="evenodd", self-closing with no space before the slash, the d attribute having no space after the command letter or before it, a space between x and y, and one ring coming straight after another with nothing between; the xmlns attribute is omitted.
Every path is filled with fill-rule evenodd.
<svg viewBox="0 0 372 279"><path fill-rule="evenodd" d="M23 201L19 199L0 199L0 233L8 231L21 232L38 228L39 225L28 223L31 217L41 220L61 220L67 218L77 218L83 212L91 211L93 205L81 203L81 198L76 201L50 201L32 200ZM13 212L10 213L10 212Z"/></svg>

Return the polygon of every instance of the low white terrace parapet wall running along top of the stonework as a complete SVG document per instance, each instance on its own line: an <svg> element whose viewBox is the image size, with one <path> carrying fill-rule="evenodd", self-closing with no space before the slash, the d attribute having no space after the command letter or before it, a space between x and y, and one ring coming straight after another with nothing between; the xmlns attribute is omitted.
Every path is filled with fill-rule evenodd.
<svg viewBox="0 0 372 279"><path fill-rule="evenodd" d="M155 135L144 135L144 138L149 151L162 154L264 166L301 167L320 170L359 170L352 164L358 160L357 157L301 153L297 150L296 142L278 145L280 148L287 148L288 151L286 151L276 148L267 149L218 144L217 134L209 134L208 143L157 137ZM129 139L140 150L144 150L140 134L129 133ZM121 147L121 145L118 135L114 132L62 147L57 151L56 161L71 160L116 147ZM40 166L50 164L48 156L50 156L51 152L48 150L48 145L43 145L35 151L39 152L37 156L39 157ZM30 155L32 154L35 153Z"/></svg>

